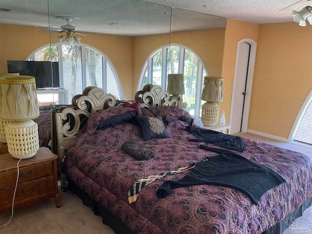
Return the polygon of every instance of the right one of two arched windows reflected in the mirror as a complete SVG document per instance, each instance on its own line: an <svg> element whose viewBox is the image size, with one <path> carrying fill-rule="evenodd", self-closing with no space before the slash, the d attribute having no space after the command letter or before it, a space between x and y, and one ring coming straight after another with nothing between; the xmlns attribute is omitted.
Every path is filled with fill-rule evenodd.
<svg viewBox="0 0 312 234"><path fill-rule="evenodd" d="M201 59L191 49L178 44L171 44L156 49L145 61L138 81L137 90L147 83L157 84L167 90L168 74L184 74L185 94L183 102L187 103L187 111L199 117L200 99L204 77L208 72Z"/></svg>

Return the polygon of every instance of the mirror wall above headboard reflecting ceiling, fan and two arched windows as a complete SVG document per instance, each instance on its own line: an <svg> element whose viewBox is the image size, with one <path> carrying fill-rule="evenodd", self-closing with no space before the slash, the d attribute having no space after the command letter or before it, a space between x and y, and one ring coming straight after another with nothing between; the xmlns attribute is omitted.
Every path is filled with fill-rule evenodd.
<svg viewBox="0 0 312 234"><path fill-rule="evenodd" d="M0 13L0 72L8 60L52 62L40 105L69 104L90 85L133 99L145 83L166 89L168 74L183 73L183 99L196 116L203 76L221 74L222 18L137 0L4 3L12 11Z"/></svg>

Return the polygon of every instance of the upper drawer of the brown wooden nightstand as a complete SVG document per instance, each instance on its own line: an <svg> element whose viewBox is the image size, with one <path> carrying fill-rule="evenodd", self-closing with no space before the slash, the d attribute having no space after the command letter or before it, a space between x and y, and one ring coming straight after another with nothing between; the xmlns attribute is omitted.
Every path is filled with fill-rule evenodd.
<svg viewBox="0 0 312 234"><path fill-rule="evenodd" d="M20 167L19 184L33 179L53 175L52 161L41 162L38 164ZM4 188L15 187L17 177L17 169L0 173L0 190Z"/></svg>

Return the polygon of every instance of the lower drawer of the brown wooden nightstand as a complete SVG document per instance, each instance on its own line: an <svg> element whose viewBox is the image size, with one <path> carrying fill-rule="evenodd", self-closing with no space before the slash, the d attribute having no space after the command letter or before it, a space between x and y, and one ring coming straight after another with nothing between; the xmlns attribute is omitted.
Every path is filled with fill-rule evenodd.
<svg viewBox="0 0 312 234"><path fill-rule="evenodd" d="M18 185L16 189L14 203L18 204L19 201L23 201L23 203L25 204L25 200L29 199L30 204L32 200L39 197L53 197L55 195L54 186L54 177L48 177L46 179ZM14 189L15 187L0 191L0 207L12 205Z"/></svg>

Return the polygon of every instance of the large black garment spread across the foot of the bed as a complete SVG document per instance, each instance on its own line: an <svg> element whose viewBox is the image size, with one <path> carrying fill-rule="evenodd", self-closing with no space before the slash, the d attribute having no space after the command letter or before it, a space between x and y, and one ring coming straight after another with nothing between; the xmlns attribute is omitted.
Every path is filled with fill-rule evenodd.
<svg viewBox="0 0 312 234"><path fill-rule="evenodd" d="M165 197L172 189L211 184L236 189L247 195L254 204L258 204L264 193L283 182L285 182L284 178L272 169L229 151L229 153L206 157L196 163L189 175L180 180L165 181L156 195Z"/></svg>

